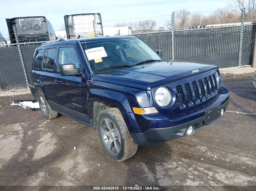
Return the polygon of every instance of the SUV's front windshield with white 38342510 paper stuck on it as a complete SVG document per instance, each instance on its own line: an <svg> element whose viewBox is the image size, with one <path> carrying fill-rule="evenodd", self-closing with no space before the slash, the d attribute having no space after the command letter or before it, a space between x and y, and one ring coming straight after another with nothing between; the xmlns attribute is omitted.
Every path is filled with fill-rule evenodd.
<svg viewBox="0 0 256 191"><path fill-rule="evenodd" d="M94 73L118 66L132 67L145 60L161 61L157 53L137 38L99 40L81 45Z"/></svg>

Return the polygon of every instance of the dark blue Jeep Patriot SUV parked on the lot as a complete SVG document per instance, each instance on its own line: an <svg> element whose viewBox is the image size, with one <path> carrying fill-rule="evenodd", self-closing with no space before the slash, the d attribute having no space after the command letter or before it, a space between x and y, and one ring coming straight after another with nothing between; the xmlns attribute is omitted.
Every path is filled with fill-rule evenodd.
<svg viewBox="0 0 256 191"><path fill-rule="evenodd" d="M35 50L30 89L47 119L60 113L92 127L123 161L138 145L192 135L228 106L217 66L159 53L131 36L46 43Z"/></svg>

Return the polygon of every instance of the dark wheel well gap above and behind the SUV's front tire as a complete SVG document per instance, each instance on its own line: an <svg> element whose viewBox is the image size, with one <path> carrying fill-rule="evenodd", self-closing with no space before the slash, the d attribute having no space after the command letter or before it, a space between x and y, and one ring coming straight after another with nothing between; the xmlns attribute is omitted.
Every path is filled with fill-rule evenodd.
<svg viewBox="0 0 256 191"><path fill-rule="evenodd" d="M107 110L109 108L113 108L115 106L106 103L106 102L102 102L102 101L94 101L93 102L93 125L94 125L94 129L96 130L97 128L97 122L98 122L98 118L101 114L102 111Z"/></svg>

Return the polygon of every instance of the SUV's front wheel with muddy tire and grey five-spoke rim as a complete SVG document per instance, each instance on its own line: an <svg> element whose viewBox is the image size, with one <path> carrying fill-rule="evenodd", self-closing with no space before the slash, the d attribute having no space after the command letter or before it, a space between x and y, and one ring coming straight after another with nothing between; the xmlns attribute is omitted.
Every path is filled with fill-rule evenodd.
<svg viewBox="0 0 256 191"><path fill-rule="evenodd" d="M124 161L136 153L138 145L117 108L104 110L98 118L97 128L101 145L113 160Z"/></svg>

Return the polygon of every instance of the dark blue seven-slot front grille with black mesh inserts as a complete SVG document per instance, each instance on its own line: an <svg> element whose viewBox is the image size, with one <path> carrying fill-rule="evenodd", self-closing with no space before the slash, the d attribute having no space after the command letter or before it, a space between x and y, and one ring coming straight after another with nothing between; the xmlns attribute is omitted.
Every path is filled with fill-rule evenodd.
<svg viewBox="0 0 256 191"><path fill-rule="evenodd" d="M201 78L198 80L198 83L197 81L192 81L191 83L176 86L180 108L191 107L194 104L198 104L199 101L201 103L213 97L217 92L215 91L217 90L216 87L214 75ZM183 105L185 105L185 107Z"/></svg>

